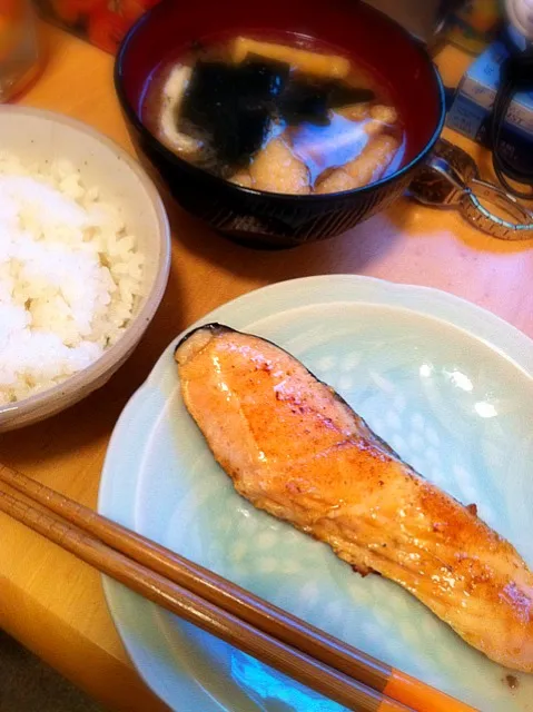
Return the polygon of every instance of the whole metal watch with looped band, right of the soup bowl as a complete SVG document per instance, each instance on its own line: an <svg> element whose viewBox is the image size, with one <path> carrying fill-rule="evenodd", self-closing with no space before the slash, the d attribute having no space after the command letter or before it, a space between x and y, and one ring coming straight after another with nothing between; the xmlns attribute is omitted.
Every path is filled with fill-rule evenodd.
<svg viewBox="0 0 533 712"><path fill-rule="evenodd" d="M456 207L471 225L492 237L533 239L533 214L503 188L481 180L474 159L446 139L438 139L409 194L424 205ZM512 221L488 210L482 200L504 210Z"/></svg>

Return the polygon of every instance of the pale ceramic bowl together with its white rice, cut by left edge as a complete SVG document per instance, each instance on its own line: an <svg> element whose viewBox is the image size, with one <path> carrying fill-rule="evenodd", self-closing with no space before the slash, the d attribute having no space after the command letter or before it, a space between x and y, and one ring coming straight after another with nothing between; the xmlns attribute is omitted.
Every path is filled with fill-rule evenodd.
<svg viewBox="0 0 533 712"><path fill-rule="evenodd" d="M0 107L0 433L102 386L169 266L165 208L136 160L67 117Z"/></svg>

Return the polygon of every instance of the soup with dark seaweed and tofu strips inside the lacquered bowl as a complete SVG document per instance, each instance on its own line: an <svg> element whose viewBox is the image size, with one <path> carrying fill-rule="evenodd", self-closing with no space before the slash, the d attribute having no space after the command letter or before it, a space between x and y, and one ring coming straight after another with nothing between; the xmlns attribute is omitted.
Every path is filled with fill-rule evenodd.
<svg viewBox="0 0 533 712"><path fill-rule="evenodd" d="M405 154L391 92L329 47L233 37L164 62L147 128L180 158L237 185L312 195L361 188Z"/></svg>

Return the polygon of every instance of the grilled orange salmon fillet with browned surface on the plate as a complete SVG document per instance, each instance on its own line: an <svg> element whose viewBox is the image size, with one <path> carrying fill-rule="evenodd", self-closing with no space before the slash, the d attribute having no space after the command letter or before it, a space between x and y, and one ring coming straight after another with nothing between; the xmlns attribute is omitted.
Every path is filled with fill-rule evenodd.
<svg viewBox="0 0 533 712"><path fill-rule="evenodd" d="M492 660L533 672L533 574L330 387L256 336L211 324L176 349L185 404L237 492L409 591Z"/></svg>

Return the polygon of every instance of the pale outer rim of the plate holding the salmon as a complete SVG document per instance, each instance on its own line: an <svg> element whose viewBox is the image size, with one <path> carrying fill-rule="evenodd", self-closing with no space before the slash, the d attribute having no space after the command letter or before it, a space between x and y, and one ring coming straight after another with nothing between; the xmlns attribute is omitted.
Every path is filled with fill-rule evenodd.
<svg viewBox="0 0 533 712"><path fill-rule="evenodd" d="M266 287L259 287L245 295L236 297L235 299L231 299L206 314L188 328L184 329L184 332L176 336L167 348L165 348L148 378L134 393L115 425L102 466L97 503L97 510L99 513L101 513L103 508L103 502L106 498L111 496L112 467L110 467L109 463L111 459L111 453L121 436L120 431L127 423L130 413L134 409L141 407L145 399L149 398L151 387L157 385L162 376L169 353L174 352L174 348L180 338L189 330L201 326L203 324L208 324L218 319L223 320L224 313L227 309L233 310L235 308L241 308L244 313L246 313L246 308L251 307L261 295L276 295L277 299L272 314L289 308L297 308L297 305L290 305L290 293L294 293L295 289L300 289L302 287L308 287L309 290L310 288L318 288L318 290L323 289L324 294L327 294L329 287L333 288L333 291L338 291L338 295L335 295L336 298L326 299L323 296L322 301L320 298L317 298L316 301L310 300L308 306L313 306L313 304L324 304L327 301L334 304L335 301L353 300L354 303L359 304L373 304L374 306L377 304L386 308L396 308L403 312L407 310L426 318L428 317L433 320L440 320L463 332L471 338L482 342L485 346L491 348L491 350L499 354L502 358L513 363L515 367L533 379L533 339L492 312L447 291L443 291L434 287L392 283L377 277L348 274L302 277L284 280ZM254 319L253 314L250 314L250 319ZM109 514L106 516L109 516ZM119 620L119 616L116 614L115 596L119 590L118 587L115 587L117 585L116 582L105 575L101 577L109 613L119 633L120 640L122 641L122 644L137 670L137 673L145 684L166 704L168 704L161 690L156 686L154 680L149 679L149 675L145 672L144 665L138 665L135 656L135 645L129 639L130 633L125 630L121 620ZM157 609L156 604L151 604L151 606ZM162 635L162 632L160 632L159 635ZM210 696L201 686L199 692ZM223 710L218 701L215 701L211 698L211 702Z"/></svg>

